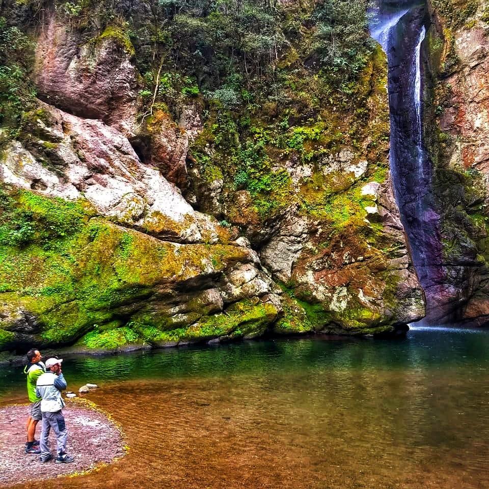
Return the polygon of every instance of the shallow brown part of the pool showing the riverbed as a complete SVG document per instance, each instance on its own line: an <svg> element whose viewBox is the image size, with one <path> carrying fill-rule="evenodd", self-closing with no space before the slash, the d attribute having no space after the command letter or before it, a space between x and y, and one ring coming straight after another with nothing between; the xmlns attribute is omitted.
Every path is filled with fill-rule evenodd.
<svg viewBox="0 0 489 489"><path fill-rule="evenodd" d="M464 444L457 439L457 425L475 419L481 406L445 410L442 423L430 418L464 390L462 381L447 389L448 376L426 379L415 370L322 375L329 391L318 391L307 377L278 375L102 386L89 397L122 425L127 455L43 487L489 487L487 432L473 430ZM73 455L81 451L73 446Z"/></svg>

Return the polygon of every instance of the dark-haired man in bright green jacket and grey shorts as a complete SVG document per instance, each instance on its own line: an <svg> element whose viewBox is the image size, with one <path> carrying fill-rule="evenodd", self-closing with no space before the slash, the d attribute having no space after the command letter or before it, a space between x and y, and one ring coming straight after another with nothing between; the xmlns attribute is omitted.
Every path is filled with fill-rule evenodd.
<svg viewBox="0 0 489 489"><path fill-rule="evenodd" d="M27 394L31 405L29 406L29 418L27 419L27 442L25 444L25 453L39 455L41 450L39 442L35 440L37 423L42 419L41 415L41 398L36 395L37 379L46 371L44 364L41 362L41 352L35 348L27 352L28 364L24 368L27 375Z"/></svg>

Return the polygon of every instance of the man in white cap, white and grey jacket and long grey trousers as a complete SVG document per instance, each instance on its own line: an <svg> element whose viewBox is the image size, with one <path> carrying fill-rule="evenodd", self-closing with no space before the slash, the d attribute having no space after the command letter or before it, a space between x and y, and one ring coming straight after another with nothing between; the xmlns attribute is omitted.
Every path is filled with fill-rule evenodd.
<svg viewBox="0 0 489 489"><path fill-rule="evenodd" d="M63 362L63 359L48 359L45 364L48 371L37 379L36 394L42 398L41 456L39 459L42 462L47 462L52 458L47 444L49 431L52 428L56 434L58 444L56 463L66 464L74 461L74 458L66 453L68 432L62 413L65 403L61 397L61 391L66 389L66 381L61 371L61 362Z"/></svg>

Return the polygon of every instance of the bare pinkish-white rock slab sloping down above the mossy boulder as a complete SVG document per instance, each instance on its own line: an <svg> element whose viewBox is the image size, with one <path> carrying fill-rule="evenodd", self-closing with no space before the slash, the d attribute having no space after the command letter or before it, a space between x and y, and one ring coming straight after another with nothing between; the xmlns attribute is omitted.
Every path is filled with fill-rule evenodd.
<svg viewBox="0 0 489 489"><path fill-rule="evenodd" d="M10 143L0 160L2 181L53 197L84 197L100 214L160 239L201 241L194 210L179 189L142 163L121 132L98 120L43 107L52 119L46 133L51 141L31 136L29 149ZM33 132L46 131L42 121L35 124L39 127ZM48 168L42 164L47 156Z"/></svg>

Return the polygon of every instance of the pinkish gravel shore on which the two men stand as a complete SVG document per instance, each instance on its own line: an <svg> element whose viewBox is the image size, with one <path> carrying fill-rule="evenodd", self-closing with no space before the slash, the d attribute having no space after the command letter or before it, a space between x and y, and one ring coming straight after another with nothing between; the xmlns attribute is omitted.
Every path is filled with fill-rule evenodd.
<svg viewBox="0 0 489 489"><path fill-rule="evenodd" d="M63 410L68 428L67 452L75 458L71 464L39 461L39 455L26 454L25 420L28 405L0 409L0 485L42 480L85 472L110 464L124 454L121 430L95 404L82 398L67 399ZM41 423L36 430L40 437ZM50 434L50 448L56 456L56 439Z"/></svg>

